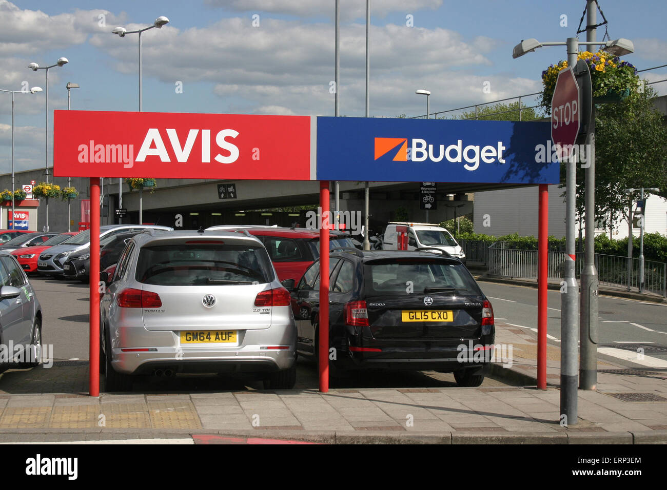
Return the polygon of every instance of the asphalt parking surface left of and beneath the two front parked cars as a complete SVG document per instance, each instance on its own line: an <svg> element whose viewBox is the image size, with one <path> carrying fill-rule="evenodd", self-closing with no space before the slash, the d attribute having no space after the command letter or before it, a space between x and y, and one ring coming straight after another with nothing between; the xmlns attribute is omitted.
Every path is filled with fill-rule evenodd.
<svg viewBox="0 0 667 490"><path fill-rule="evenodd" d="M21 393L88 392L88 289L80 281L31 277L42 305L43 345L46 362L33 369L9 369L0 374L0 395ZM51 367L45 367L51 364ZM297 359L294 389L317 389L317 369L311 359ZM508 386L486 377L482 387ZM436 371L377 371L331 379L331 388L446 388L456 387L451 373ZM170 378L137 377L133 393L193 393L262 390L261 381L249 376L177 375ZM101 391L104 391L103 380Z"/></svg>

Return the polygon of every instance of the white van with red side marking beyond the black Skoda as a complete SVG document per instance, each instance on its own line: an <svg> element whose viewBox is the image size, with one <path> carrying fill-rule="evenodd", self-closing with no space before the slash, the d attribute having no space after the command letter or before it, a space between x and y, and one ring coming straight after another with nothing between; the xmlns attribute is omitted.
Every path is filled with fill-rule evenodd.
<svg viewBox="0 0 667 490"><path fill-rule="evenodd" d="M442 249L466 263L466 254L449 231L430 223L397 223L392 221L384 231L382 249L415 250L423 247Z"/></svg>

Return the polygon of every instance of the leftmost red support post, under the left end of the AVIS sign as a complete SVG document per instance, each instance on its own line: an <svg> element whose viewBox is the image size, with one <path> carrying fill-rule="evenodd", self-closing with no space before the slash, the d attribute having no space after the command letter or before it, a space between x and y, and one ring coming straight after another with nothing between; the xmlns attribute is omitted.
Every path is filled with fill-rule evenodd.
<svg viewBox="0 0 667 490"><path fill-rule="evenodd" d="M89 391L99 397L99 177L90 179Z"/></svg>

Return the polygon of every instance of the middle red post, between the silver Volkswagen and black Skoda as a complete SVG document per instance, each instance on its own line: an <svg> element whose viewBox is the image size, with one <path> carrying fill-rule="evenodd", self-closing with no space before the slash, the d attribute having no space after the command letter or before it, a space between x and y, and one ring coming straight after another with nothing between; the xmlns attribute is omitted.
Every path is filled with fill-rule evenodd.
<svg viewBox="0 0 667 490"><path fill-rule="evenodd" d="M319 391L329 391L329 181L319 183Z"/></svg>

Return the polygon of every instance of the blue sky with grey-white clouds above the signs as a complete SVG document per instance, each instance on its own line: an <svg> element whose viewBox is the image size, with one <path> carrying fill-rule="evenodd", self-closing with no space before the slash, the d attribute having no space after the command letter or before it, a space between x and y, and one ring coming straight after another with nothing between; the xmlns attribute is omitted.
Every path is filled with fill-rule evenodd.
<svg viewBox="0 0 667 490"><path fill-rule="evenodd" d="M512 59L522 39L565 41L576 35L584 0L372 0L370 114L422 115L541 90L542 69L565 47ZM612 39L634 41L624 58L638 69L667 63L664 0L642 10L600 0ZM49 112L137 111L137 35L143 35L143 111L333 115L333 0L0 0L0 89L45 88ZM341 0L340 113L364 116L366 2ZM648 15L650 13L650 15ZM598 21L602 17L598 13ZM605 27L598 28L602 39ZM580 35L585 40L585 34ZM667 69L644 74L667 78ZM667 94L667 82L653 85ZM530 103L530 99L529 99ZM11 171L11 95L0 93L0 173ZM53 124L49 119L49 133ZM51 137L49 135L49 137ZM15 170L44 167L45 93L15 95ZM49 141L50 145L50 141ZM53 158L49 146L49 161ZM49 166L51 163L49 163Z"/></svg>

